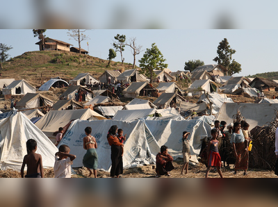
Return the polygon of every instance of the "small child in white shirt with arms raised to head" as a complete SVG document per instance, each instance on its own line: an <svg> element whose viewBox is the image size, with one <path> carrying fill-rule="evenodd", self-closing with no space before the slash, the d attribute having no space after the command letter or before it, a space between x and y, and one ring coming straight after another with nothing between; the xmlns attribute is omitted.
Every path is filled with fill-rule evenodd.
<svg viewBox="0 0 278 207"><path fill-rule="evenodd" d="M55 154L54 163L54 177L55 178L71 178L72 160L76 158L75 155L70 154L70 147L65 144L60 145L59 151Z"/></svg>

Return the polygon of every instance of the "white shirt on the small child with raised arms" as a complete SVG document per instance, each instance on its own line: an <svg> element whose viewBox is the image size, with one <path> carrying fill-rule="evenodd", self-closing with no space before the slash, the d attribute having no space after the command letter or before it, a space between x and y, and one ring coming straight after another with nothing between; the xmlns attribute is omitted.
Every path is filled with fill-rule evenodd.
<svg viewBox="0 0 278 207"><path fill-rule="evenodd" d="M55 157L54 163L54 177L55 178L71 178L72 177L72 161L69 157L63 160L59 160L59 157Z"/></svg>

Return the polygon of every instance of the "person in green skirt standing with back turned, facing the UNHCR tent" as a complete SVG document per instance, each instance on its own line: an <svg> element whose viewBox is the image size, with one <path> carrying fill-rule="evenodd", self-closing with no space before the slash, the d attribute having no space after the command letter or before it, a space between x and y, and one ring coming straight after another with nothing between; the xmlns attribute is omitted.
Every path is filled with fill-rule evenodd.
<svg viewBox="0 0 278 207"><path fill-rule="evenodd" d="M97 178L97 141L91 135L92 128L89 126L85 128L85 138L83 138L83 148L87 150L83 157L83 165L87 167L90 171L89 177L92 175L92 170L94 171L95 178Z"/></svg>

